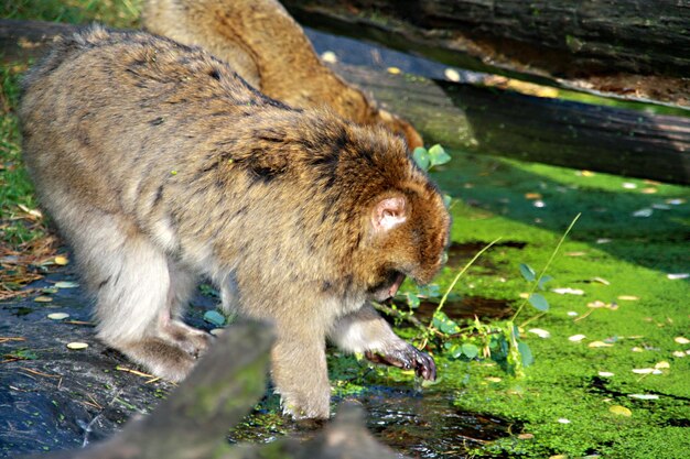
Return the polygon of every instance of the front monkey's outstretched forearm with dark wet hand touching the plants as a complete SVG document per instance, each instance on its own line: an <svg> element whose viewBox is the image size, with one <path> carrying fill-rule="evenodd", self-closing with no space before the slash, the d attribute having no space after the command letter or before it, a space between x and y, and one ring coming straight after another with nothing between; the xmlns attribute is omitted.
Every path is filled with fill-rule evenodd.
<svg viewBox="0 0 690 459"><path fill-rule="evenodd" d="M374 363L413 369L425 380L436 379L433 359L398 337L368 303L338 319L328 338L343 350L363 352Z"/></svg>

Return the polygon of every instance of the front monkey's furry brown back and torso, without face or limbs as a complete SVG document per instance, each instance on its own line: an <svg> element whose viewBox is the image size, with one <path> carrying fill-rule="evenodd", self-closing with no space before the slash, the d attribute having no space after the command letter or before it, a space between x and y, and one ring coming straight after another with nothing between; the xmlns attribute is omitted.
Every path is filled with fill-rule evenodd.
<svg viewBox="0 0 690 459"><path fill-rule="evenodd" d="M420 189L445 215L399 139L291 109L209 54L141 32L63 40L28 75L20 116L68 239L85 212L118 216L212 277L245 263L266 288L348 285L380 193Z"/></svg>

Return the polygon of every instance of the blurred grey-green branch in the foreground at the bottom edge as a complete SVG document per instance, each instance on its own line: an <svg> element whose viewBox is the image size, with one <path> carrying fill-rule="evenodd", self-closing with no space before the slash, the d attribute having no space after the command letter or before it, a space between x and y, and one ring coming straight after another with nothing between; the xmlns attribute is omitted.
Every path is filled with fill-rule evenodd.
<svg viewBox="0 0 690 459"><path fill-rule="evenodd" d="M130 420L111 439L80 450L24 459L367 459L399 458L364 427L362 409L343 405L335 420L304 444L227 444L266 391L271 327L246 321L228 327L192 374L151 415Z"/></svg>

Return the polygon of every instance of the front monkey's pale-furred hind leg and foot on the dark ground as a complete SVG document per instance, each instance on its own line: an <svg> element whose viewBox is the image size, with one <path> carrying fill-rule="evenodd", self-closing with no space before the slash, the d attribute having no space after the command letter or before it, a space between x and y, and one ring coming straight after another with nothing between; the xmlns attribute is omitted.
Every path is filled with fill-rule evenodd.
<svg viewBox="0 0 690 459"><path fill-rule="evenodd" d="M96 293L98 337L154 374L182 380L207 342L174 318L188 281L172 288L165 254L130 222L84 206L75 217L78 230L67 236Z"/></svg>

